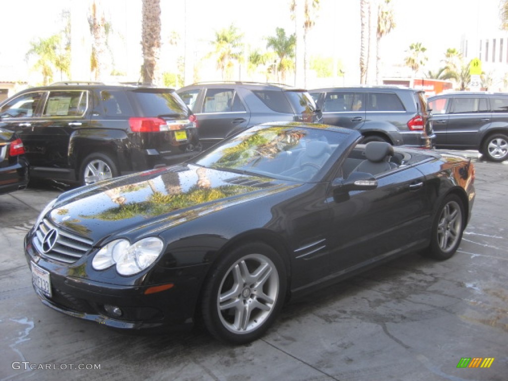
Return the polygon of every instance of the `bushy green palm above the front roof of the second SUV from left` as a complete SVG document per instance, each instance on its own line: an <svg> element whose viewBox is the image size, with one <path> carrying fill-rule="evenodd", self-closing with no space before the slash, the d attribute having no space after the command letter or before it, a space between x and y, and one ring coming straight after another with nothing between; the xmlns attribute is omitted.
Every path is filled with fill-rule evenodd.
<svg viewBox="0 0 508 381"><path fill-rule="evenodd" d="M242 39L243 34L233 24L229 28L215 31L215 41L212 42L213 51L208 56L217 57L217 69L220 70L223 80L231 79L233 61L240 61L242 58Z"/></svg>

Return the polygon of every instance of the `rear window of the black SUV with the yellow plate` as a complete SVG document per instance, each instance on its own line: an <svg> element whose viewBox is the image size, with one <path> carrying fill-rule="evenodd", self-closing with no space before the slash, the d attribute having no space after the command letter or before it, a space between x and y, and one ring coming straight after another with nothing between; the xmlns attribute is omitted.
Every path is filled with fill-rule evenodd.
<svg viewBox="0 0 508 381"><path fill-rule="evenodd" d="M174 91L138 89L131 91L131 95L136 97L136 103L140 105L144 115L179 115L185 117L189 115L187 105Z"/></svg>

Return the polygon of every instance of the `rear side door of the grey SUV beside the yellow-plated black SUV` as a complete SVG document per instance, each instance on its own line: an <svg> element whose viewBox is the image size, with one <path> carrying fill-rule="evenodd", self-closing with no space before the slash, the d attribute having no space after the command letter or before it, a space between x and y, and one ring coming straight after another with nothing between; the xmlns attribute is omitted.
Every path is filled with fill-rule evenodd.
<svg viewBox="0 0 508 381"><path fill-rule="evenodd" d="M193 111L205 149L246 128L249 122L249 113L233 88L207 88L201 109Z"/></svg>

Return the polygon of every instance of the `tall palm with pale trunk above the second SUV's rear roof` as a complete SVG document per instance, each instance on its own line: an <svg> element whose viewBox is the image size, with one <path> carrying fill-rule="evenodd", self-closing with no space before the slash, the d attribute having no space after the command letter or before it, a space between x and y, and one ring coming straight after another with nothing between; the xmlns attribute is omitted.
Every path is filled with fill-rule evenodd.
<svg viewBox="0 0 508 381"><path fill-rule="evenodd" d="M292 12L292 17L295 19L295 27L296 27L296 41L297 41L297 52L296 52L296 68L297 68L297 75L300 75L298 73L298 67L299 60L300 60L300 51L302 53L303 58L303 87L307 87L307 71L309 69L309 62L307 59L307 35L309 33L309 30L314 26L315 24L315 18L317 17L317 11L319 10L319 2L320 0L292 0L290 5L290 10ZM303 12L303 26L299 25L300 18L298 16L301 15ZM297 15L297 13L299 13ZM303 31L303 35L300 37L300 34ZM301 49L300 46L298 46L298 42L303 41L303 49Z"/></svg>

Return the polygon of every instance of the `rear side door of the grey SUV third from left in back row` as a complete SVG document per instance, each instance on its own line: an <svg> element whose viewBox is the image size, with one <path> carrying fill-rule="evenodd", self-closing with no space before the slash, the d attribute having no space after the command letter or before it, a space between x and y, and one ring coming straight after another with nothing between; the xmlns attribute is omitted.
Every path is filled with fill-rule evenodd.
<svg viewBox="0 0 508 381"><path fill-rule="evenodd" d="M323 99L323 123L360 129L365 123L365 94L328 91Z"/></svg>

